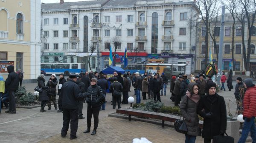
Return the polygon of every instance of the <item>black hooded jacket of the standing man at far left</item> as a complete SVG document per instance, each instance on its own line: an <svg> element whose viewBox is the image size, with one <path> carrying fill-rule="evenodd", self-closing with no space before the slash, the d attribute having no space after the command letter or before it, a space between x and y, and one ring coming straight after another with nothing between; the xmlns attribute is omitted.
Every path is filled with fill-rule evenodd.
<svg viewBox="0 0 256 143"><path fill-rule="evenodd" d="M19 78L17 73L14 72L14 66L9 65L7 67L8 77L5 81L5 87L8 91L16 91L19 87Z"/></svg>

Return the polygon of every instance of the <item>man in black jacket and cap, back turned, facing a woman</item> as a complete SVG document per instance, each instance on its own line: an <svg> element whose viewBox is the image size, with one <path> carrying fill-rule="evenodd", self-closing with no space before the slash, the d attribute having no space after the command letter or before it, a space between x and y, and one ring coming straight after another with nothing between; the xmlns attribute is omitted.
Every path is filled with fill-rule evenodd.
<svg viewBox="0 0 256 143"><path fill-rule="evenodd" d="M85 94L81 93L79 86L76 84L76 76L76 74L71 73L70 80L61 87L63 108L61 137L66 137L70 123L70 140L77 138L79 101L83 101L85 98Z"/></svg>

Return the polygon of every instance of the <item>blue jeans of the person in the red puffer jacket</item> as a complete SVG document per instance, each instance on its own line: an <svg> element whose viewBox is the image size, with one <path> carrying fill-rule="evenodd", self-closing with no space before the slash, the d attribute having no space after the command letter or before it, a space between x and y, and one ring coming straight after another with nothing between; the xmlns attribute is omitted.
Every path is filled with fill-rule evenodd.
<svg viewBox="0 0 256 143"><path fill-rule="evenodd" d="M250 119L250 122L247 122L245 118L242 135L237 143L245 143L249 132L251 133L253 143L256 143L256 127L255 127L254 119L255 117L252 117Z"/></svg>

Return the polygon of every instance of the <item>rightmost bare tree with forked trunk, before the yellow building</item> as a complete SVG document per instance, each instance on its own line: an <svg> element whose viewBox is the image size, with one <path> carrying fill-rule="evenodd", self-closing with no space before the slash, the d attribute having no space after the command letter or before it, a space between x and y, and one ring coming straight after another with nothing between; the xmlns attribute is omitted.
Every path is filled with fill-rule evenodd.
<svg viewBox="0 0 256 143"><path fill-rule="evenodd" d="M243 45L243 58L244 58L244 67L246 71L250 71L250 53L251 53L251 36L253 30L253 24L255 21L256 15L256 1L255 0L238 0L239 12L236 10L236 17L238 18L239 22L241 23L242 28L242 45ZM248 40L245 43L244 39L244 28L245 24L247 24L248 28ZM245 45L247 44L247 53Z"/></svg>

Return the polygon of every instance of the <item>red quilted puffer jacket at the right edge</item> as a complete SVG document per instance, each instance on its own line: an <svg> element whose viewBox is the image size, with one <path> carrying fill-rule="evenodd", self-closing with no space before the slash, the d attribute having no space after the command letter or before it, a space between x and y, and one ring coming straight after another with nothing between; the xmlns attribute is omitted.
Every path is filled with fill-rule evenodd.
<svg viewBox="0 0 256 143"><path fill-rule="evenodd" d="M244 93L244 117L256 117L256 86L249 87Z"/></svg>

